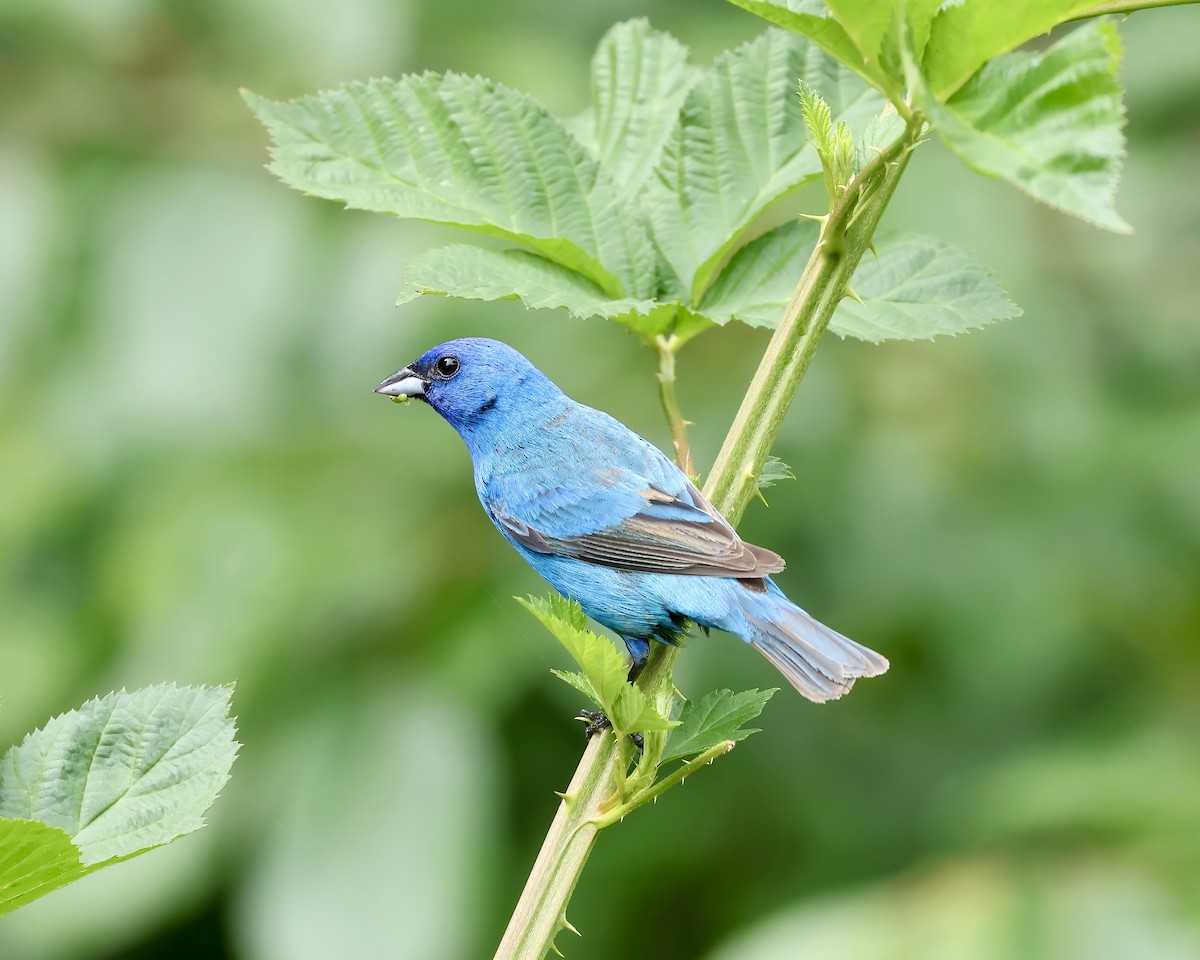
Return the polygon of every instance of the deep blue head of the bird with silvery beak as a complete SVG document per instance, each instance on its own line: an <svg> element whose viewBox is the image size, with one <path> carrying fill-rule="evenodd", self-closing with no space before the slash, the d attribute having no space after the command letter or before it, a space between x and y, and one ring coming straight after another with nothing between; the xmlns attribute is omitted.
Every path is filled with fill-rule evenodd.
<svg viewBox="0 0 1200 960"><path fill-rule="evenodd" d="M424 400L468 442L485 425L508 420L511 410L559 394L508 343L481 337L451 340L426 350L384 379L376 392L394 400Z"/></svg>

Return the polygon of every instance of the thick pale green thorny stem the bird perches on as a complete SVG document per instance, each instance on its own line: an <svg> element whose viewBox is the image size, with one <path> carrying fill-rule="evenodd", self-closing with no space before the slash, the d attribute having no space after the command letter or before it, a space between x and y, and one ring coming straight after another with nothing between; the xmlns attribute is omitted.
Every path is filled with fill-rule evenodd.
<svg viewBox="0 0 1200 960"><path fill-rule="evenodd" d="M733 523L740 520L757 488L758 470L779 433L784 414L834 310L846 295L854 268L871 244L875 227L892 199L923 126L920 118L914 115L904 134L859 170L823 218L821 240L804 268L704 485L704 494ZM660 348L660 364L662 355ZM671 389L662 389L661 373L659 379L665 409L668 398L671 403L674 401L673 366L672 352L667 378ZM677 404L674 410L678 414ZM671 416L668 409L668 420ZM679 421L682 424L682 416ZM677 648L662 644L655 644L652 650L637 679L652 700L661 701L670 695L671 672L678 653ZM566 904L598 830L601 824L607 826L613 811L618 778L624 774L618 770L620 756L610 733L594 737L588 744L526 881L496 960L542 960L553 949L554 935L564 928L572 929L565 923ZM677 779L683 779L676 778L677 773L664 778L662 782L670 779L674 785ZM654 797L660 792L655 790Z"/></svg>

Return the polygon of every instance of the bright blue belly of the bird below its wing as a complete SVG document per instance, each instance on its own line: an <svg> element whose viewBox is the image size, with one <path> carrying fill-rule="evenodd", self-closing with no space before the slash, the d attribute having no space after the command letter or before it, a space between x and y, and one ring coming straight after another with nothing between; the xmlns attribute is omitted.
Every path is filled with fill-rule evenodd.
<svg viewBox="0 0 1200 960"><path fill-rule="evenodd" d="M517 550L550 586L623 637L652 637L660 629L674 629L672 613L721 626L730 611L731 581L720 577L614 570L520 546Z"/></svg>

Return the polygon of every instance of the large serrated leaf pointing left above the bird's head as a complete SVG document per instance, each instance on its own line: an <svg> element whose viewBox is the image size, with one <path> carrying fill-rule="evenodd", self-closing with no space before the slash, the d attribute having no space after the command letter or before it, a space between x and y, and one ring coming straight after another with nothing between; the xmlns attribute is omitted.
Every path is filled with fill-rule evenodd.
<svg viewBox="0 0 1200 960"><path fill-rule="evenodd" d="M456 73L274 102L246 92L286 184L527 246L610 298L655 288L654 251L599 161L533 97Z"/></svg>

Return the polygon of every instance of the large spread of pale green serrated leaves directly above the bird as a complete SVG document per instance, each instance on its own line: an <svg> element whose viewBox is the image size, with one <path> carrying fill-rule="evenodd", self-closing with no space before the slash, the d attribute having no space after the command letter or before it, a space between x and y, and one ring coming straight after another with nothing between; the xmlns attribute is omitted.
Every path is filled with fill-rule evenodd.
<svg viewBox="0 0 1200 960"><path fill-rule="evenodd" d="M455 73L290 102L246 97L270 131L271 169L284 182L500 241L418 256L401 302L518 299L678 347L731 320L778 324L818 230L791 222L756 238L762 215L822 179L833 202L904 128L888 102L908 110L895 84L875 83L877 71L844 53L770 30L702 70L677 40L631 20L600 42L593 103L566 121L527 94ZM894 252L900 263L932 263L926 280L961 275L980 295L926 282L925 299L905 301L911 308L898 322L889 301L856 280L857 314L839 308L835 332L931 337L1019 313L958 247L907 236ZM775 281L769 292L767 281Z"/></svg>

